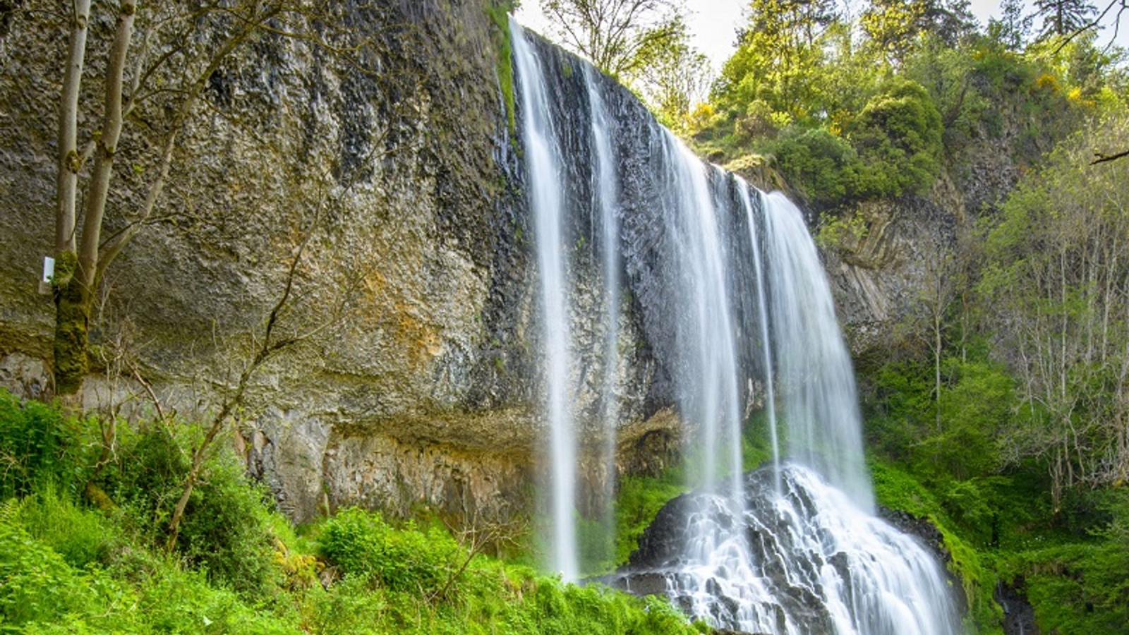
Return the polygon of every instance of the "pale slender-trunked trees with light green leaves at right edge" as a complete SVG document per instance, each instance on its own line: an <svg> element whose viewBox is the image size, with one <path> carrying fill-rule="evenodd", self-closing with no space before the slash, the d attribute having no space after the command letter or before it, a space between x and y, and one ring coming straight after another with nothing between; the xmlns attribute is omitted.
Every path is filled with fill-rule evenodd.
<svg viewBox="0 0 1129 635"><path fill-rule="evenodd" d="M1068 488L1123 481L1129 466L1123 425L1113 424L1129 416L1129 308L1114 290L1129 273L1129 168L1087 165L1093 148L1129 143L1126 121L1119 114L1060 143L984 237L975 292L1000 324L1001 349L1024 353L1009 360L1024 382L1008 459L1044 466L1056 506Z"/></svg>

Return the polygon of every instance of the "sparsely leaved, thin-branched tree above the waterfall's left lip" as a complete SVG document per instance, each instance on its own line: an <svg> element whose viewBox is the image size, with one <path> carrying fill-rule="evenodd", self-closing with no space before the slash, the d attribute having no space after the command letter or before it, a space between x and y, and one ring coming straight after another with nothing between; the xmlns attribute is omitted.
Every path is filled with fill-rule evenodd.
<svg viewBox="0 0 1129 635"><path fill-rule="evenodd" d="M674 0L542 0L541 9L564 46L609 75L638 73L656 53L684 42Z"/></svg>

